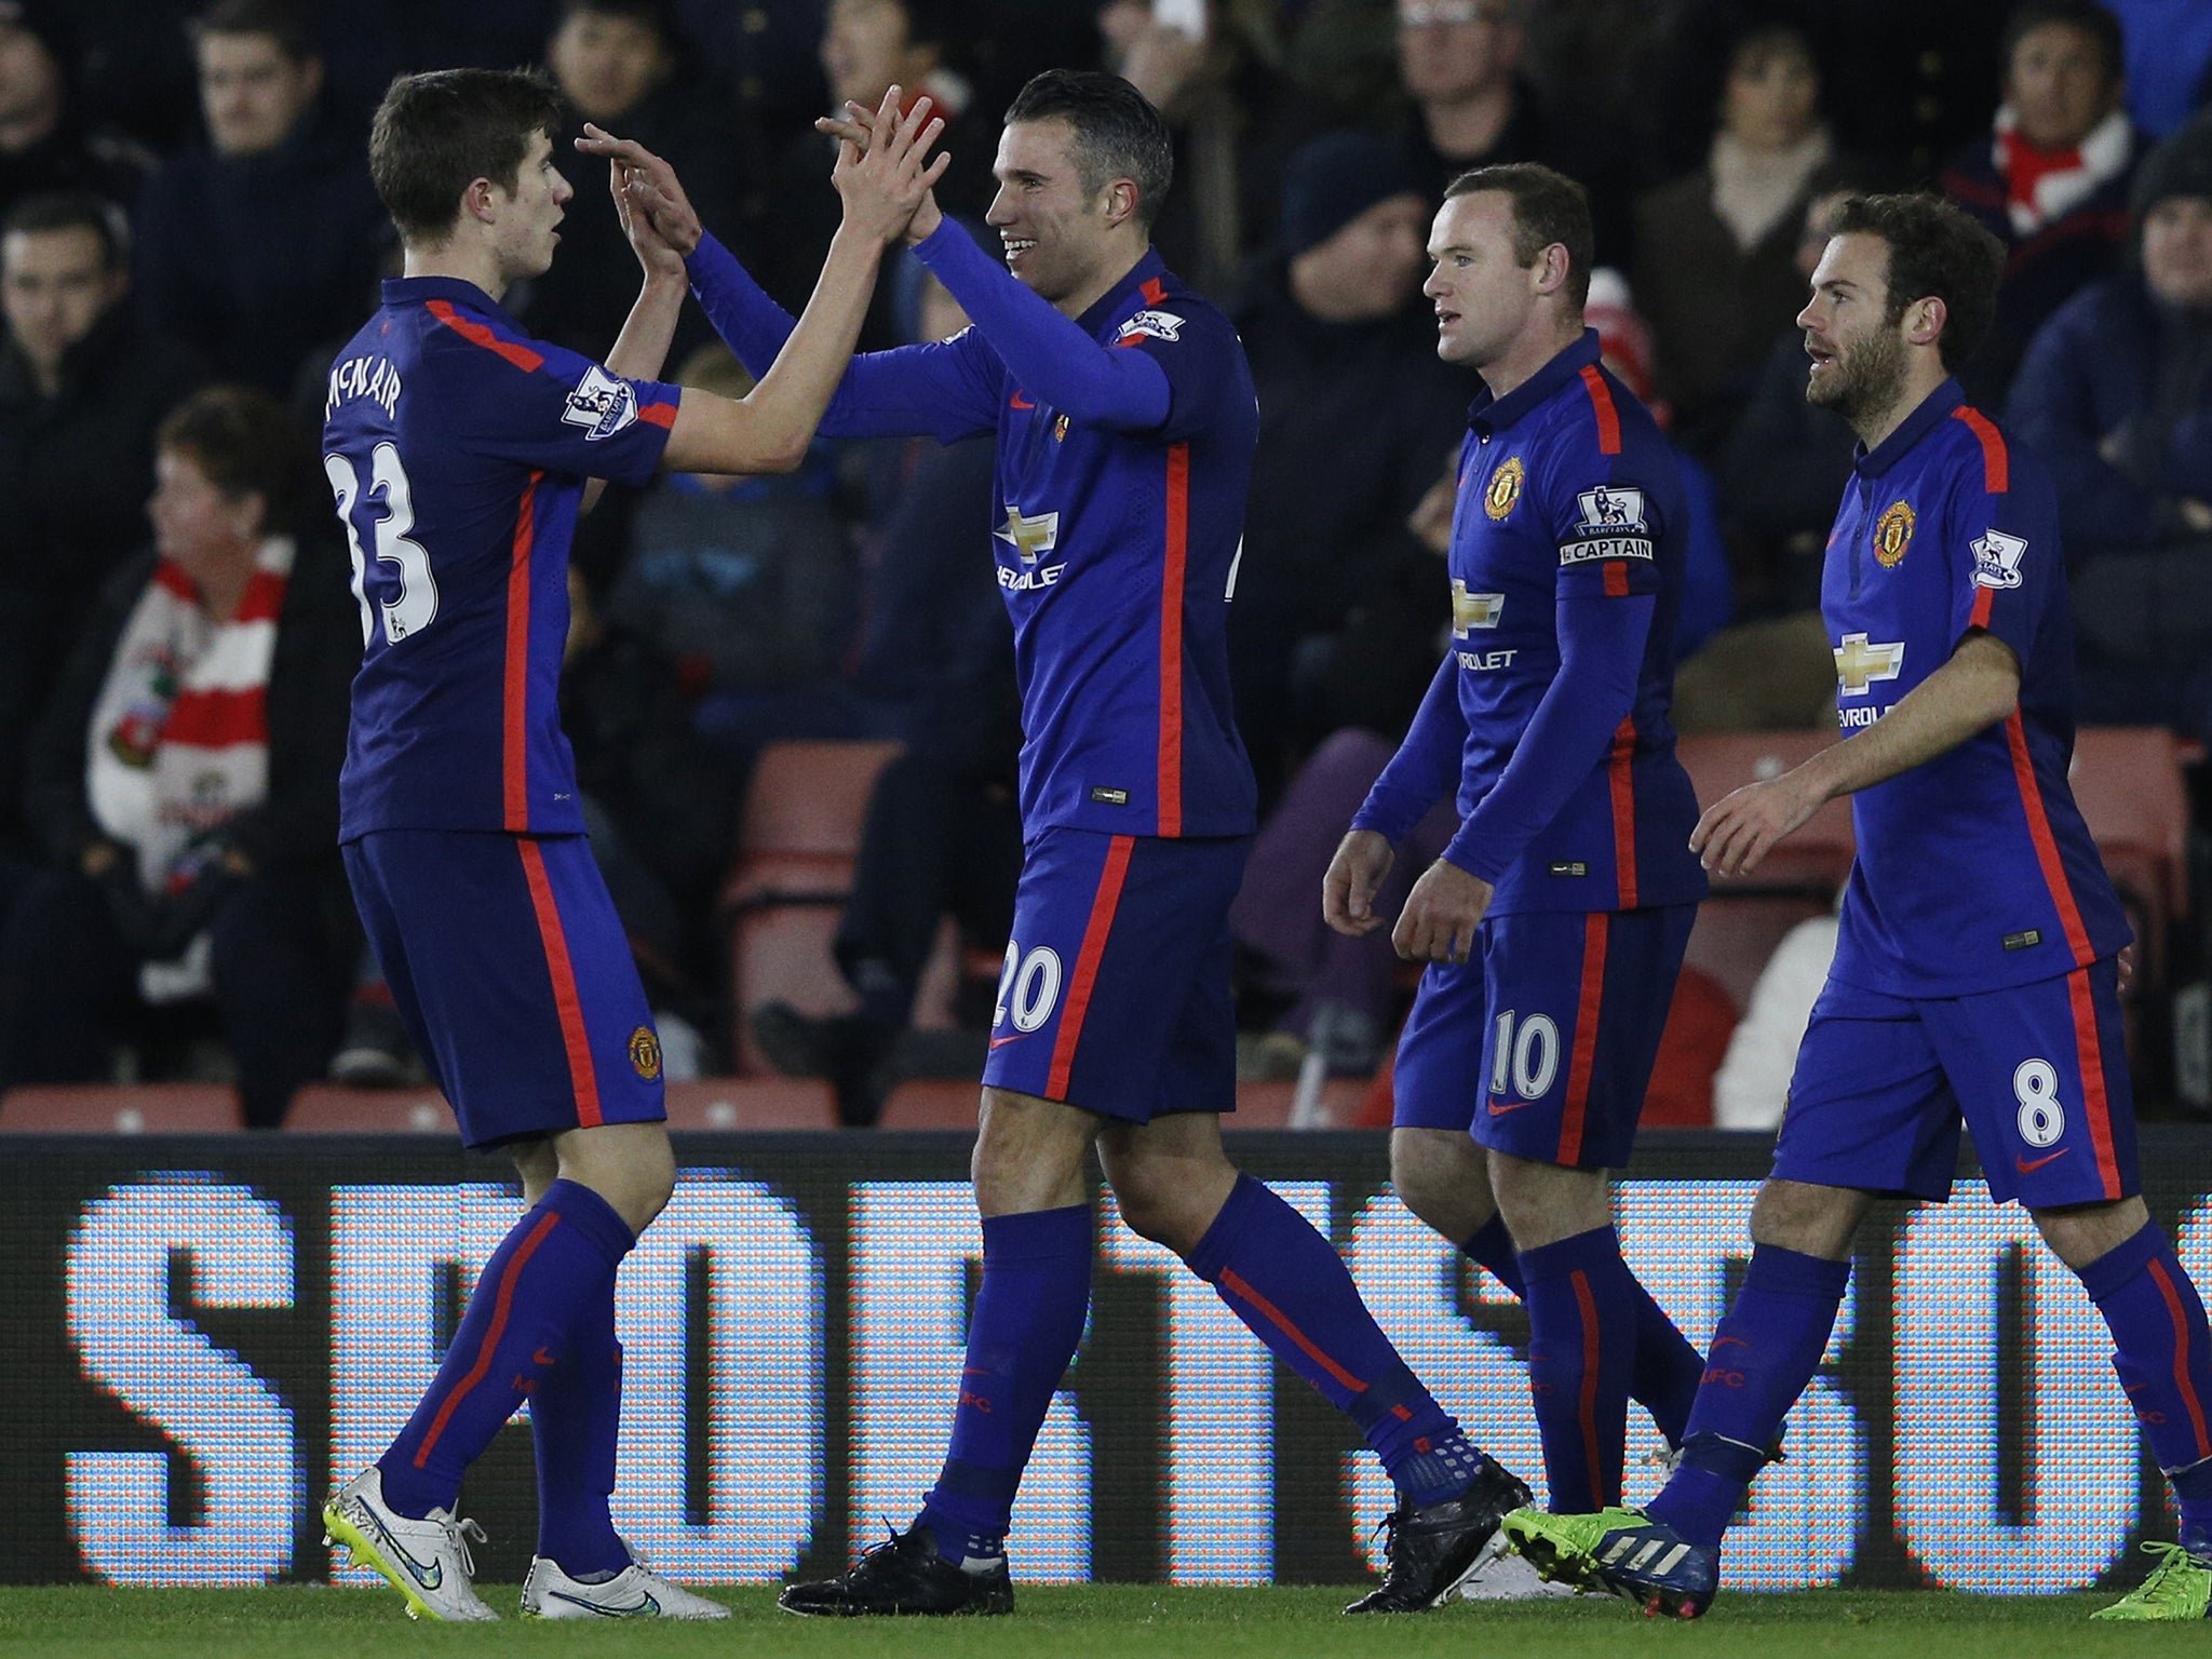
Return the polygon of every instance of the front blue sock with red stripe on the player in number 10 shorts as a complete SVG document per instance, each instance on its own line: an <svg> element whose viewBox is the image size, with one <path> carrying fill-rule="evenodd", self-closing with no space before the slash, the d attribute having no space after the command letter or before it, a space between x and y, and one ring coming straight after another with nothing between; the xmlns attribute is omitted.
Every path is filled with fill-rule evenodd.
<svg viewBox="0 0 2212 1659"><path fill-rule="evenodd" d="M1528 1391L1557 1515L1621 1502L1637 1281L1613 1228L1522 1252L1528 1281Z"/></svg>

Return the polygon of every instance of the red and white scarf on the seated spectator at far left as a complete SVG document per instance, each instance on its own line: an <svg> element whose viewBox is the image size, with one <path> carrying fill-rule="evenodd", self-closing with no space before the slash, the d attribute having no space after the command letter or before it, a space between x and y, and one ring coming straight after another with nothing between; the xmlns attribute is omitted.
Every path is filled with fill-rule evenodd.
<svg viewBox="0 0 2212 1659"><path fill-rule="evenodd" d="M192 577L161 560L131 608L84 739L84 785L100 827L137 852L148 894L192 885L221 852L221 827L270 787L268 681L292 538L254 555L228 622L199 606ZM206 989L206 936L142 989L170 1002Z"/></svg>

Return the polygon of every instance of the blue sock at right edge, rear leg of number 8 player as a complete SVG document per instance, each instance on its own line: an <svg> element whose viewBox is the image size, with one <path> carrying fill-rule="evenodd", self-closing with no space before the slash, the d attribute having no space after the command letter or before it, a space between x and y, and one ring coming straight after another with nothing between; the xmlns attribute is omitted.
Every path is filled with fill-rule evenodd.
<svg viewBox="0 0 2212 1659"><path fill-rule="evenodd" d="M2146 1223L2084 1267L2081 1287L2112 1329L2112 1369L2174 1484L2183 1531L2212 1526L2212 1334L2197 1285Z"/></svg>

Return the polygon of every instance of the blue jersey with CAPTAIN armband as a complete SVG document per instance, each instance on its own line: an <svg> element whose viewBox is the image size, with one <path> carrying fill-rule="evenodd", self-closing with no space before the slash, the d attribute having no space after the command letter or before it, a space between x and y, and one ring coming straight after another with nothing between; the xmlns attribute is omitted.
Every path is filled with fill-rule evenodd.
<svg viewBox="0 0 2212 1659"><path fill-rule="evenodd" d="M1451 522L1451 661L1467 721L1460 818L1498 785L1559 675L1568 599L1657 595L1635 706L1526 852L1491 914L1694 905L1697 792L1674 759L1674 617L1690 511L1674 456L1641 403L1599 367L1597 334L1504 398L1475 396Z"/></svg>

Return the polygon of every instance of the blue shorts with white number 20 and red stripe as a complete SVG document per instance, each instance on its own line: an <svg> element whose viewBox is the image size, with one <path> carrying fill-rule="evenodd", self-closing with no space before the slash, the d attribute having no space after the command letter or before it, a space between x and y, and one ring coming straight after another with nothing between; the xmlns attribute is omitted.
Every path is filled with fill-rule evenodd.
<svg viewBox="0 0 2212 1659"><path fill-rule="evenodd" d="M1234 1110L1230 900L1250 847L1250 836L1033 836L984 1088L1133 1124Z"/></svg>

